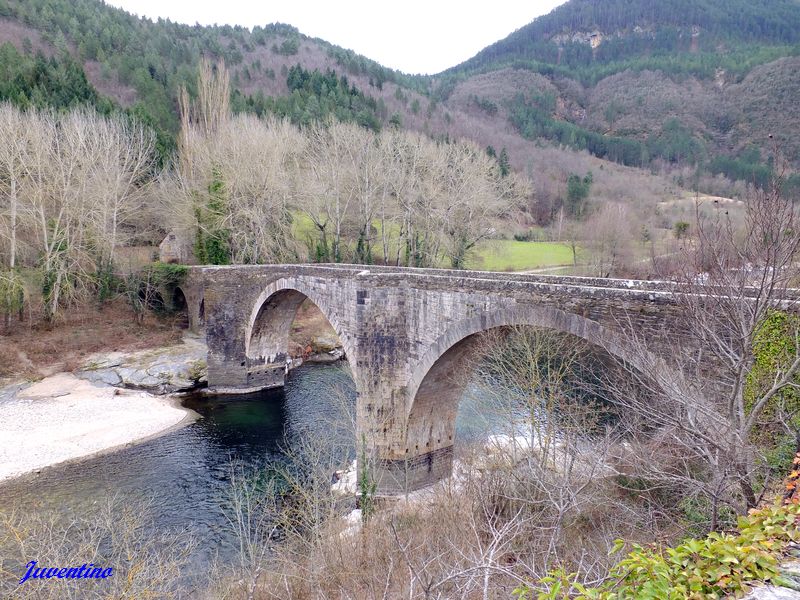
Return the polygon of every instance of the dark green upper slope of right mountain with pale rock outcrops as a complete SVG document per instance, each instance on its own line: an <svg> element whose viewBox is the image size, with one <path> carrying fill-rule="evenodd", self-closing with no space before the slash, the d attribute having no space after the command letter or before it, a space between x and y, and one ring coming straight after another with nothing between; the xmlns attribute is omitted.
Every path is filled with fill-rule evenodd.
<svg viewBox="0 0 800 600"><path fill-rule="evenodd" d="M643 54L725 54L798 43L797 0L570 0L450 71L516 60L578 68Z"/></svg>

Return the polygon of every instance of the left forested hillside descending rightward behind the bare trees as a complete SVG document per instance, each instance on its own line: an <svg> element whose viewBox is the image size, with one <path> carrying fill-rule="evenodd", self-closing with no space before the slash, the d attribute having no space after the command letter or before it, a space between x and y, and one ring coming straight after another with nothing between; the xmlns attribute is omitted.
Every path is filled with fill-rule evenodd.
<svg viewBox="0 0 800 600"><path fill-rule="evenodd" d="M645 196L656 202L681 193L660 176L525 139L504 115L437 100L430 79L386 69L288 25L190 27L140 20L97 0L0 0L0 47L0 71L9 74L0 100L22 108L88 103L103 114L123 112L155 130L162 164L176 156L178 90L185 86L196 95L205 56L231 72L234 113L275 114L301 126L335 117L373 131L399 127L440 140L466 137L497 155L505 148L507 163L542 190L527 211L539 215L537 222L558 212L572 173L593 171L598 201ZM527 225L508 223L502 231L511 235L520 227Z"/></svg>

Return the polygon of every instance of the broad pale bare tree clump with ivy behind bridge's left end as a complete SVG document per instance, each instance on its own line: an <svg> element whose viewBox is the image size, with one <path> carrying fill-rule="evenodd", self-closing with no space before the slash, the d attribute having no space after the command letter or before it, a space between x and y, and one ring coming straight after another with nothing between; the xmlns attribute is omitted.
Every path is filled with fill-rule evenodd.
<svg viewBox="0 0 800 600"><path fill-rule="evenodd" d="M164 214L191 237L218 239L226 261L296 260L292 210L305 137L274 118L215 117L209 132L210 122L183 124L182 170L162 179Z"/></svg>

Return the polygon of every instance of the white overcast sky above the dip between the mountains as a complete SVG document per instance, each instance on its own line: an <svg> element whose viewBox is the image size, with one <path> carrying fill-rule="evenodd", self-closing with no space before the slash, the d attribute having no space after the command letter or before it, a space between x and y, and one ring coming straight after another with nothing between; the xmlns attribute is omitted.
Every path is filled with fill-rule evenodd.
<svg viewBox="0 0 800 600"><path fill-rule="evenodd" d="M288 23L406 73L438 73L564 0L106 0L139 16L194 25Z"/></svg>

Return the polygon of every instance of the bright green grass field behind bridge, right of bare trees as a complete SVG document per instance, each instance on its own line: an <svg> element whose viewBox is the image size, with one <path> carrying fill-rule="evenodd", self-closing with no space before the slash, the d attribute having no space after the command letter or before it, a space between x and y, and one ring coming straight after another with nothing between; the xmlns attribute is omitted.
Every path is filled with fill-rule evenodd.
<svg viewBox="0 0 800 600"><path fill-rule="evenodd" d="M572 250L554 242L492 240L482 244L467 268L483 271L525 271L572 264Z"/></svg>

